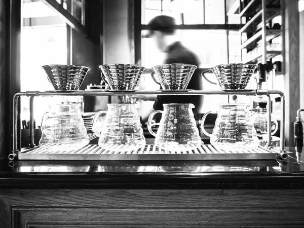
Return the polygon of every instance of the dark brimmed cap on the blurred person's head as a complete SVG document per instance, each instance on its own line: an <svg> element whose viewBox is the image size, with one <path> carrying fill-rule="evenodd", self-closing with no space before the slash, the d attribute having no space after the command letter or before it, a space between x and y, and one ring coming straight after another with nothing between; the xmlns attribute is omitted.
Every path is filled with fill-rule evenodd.
<svg viewBox="0 0 304 228"><path fill-rule="evenodd" d="M150 37L154 31L163 31L163 32L173 32L175 25L175 19L170 16L160 15L147 24L147 29L149 30L147 34L143 35L143 37Z"/></svg>

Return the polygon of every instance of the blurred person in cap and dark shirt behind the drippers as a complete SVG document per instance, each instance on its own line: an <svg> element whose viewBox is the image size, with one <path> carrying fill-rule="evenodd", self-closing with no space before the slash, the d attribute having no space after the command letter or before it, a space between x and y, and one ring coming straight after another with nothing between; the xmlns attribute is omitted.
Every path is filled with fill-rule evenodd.
<svg viewBox="0 0 304 228"><path fill-rule="evenodd" d="M161 15L152 19L149 23L149 33L145 37L152 37L161 52L166 53L164 64L185 63L199 66L196 55L184 47L175 36L175 20L172 17ZM162 88L161 88L162 89ZM196 69L186 89L203 90L202 77ZM142 100L153 100L152 97L138 97ZM163 104L167 103L192 103L195 119L198 120L199 110L203 105L203 96L157 96L153 107L141 116L141 121L145 123L149 115L155 110L164 110Z"/></svg>

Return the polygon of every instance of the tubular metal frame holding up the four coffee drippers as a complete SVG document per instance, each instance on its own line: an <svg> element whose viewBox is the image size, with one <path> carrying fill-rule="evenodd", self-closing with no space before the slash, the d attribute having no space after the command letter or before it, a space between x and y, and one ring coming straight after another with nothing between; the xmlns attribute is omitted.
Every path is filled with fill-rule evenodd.
<svg viewBox="0 0 304 228"><path fill-rule="evenodd" d="M135 92L121 92L119 95L251 95L251 96L259 96L259 95L267 95L269 97L269 109L268 109L268 123L271 120L271 111L270 111L270 102L271 94L277 94L281 97L281 141L280 141L280 151L281 154L286 155L285 152L285 96L284 93L278 90L231 90L231 91L224 91L224 90L217 90L217 91L204 91L204 90L194 90L194 91L187 91L187 92L164 92L164 91L135 91ZM18 153L18 142L17 142L17 126L18 126L18 98L20 96L28 96L30 97L30 105L33 105L33 97L36 96L113 96L118 95L117 92L110 92L106 90L100 91L26 91L26 92L19 92L15 94L13 99L14 104L14 113L13 113L13 153L9 155L10 160L14 160L15 156ZM19 120L20 121L20 120ZM33 123L33 107L30 108L30 123ZM33 132L33 124L30 124L30 131ZM268 125L268 132L269 132L269 147L272 149L271 146L271 125ZM31 144L33 144L33 135L31 135ZM284 158L284 157L283 157ZM287 158L287 157L286 157Z"/></svg>

